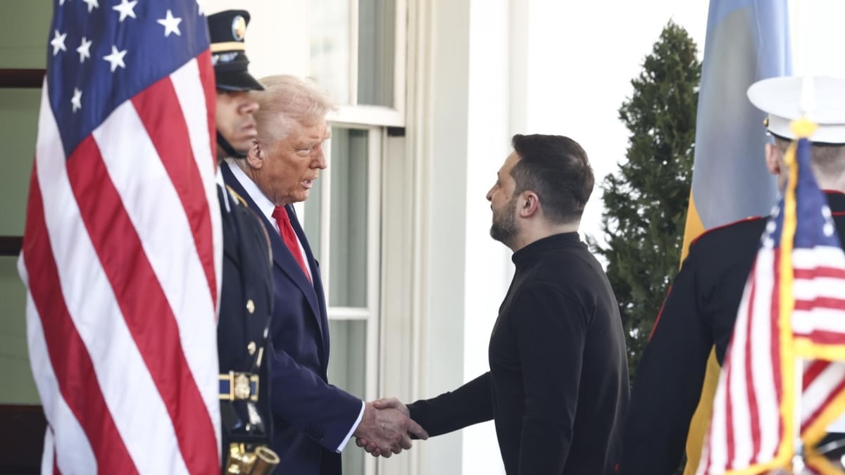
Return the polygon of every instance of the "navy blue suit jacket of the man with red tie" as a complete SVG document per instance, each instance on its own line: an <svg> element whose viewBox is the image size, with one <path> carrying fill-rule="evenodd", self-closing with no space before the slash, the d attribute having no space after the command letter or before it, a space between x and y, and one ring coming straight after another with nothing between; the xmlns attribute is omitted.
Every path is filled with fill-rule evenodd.
<svg viewBox="0 0 845 475"><path fill-rule="evenodd" d="M226 165L221 170L224 182L243 196L270 233L274 261L270 393L279 467L297 475L340 475L341 458L335 450L357 420L361 400L328 383L329 320L319 265L291 205L286 210L305 249L313 285L232 170Z"/></svg>

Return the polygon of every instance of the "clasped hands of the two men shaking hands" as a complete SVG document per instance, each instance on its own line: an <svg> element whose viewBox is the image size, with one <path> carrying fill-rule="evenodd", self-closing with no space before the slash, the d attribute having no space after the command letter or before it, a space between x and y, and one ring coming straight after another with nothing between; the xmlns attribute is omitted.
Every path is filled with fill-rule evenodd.
<svg viewBox="0 0 845 475"><path fill-rule="evenodd" d="M428 433L411 419L411 412L395 397L367 402L358 424L355 443L372 456L389 458L411 448L411 434L428 439Z"/></svg>

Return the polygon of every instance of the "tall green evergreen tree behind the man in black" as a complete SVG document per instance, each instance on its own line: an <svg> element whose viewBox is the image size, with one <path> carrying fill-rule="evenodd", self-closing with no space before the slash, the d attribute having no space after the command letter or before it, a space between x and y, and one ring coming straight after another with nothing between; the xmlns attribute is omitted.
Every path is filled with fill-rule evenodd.
<svg viewBox="0 0 845 475"><path fill-rule="evenodd" d="M631 80L634 93L619 108L630 130L628 160L602 183L607 244L590 239L593 250L608 260L631 381L679 269L701 80L696 54L695 41L670 20L642 73Z"/></svg>

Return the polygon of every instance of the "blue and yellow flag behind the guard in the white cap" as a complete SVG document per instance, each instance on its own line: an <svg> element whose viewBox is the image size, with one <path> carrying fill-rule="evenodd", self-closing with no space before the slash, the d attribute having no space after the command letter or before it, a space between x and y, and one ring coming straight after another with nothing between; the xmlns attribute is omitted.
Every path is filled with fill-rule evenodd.
<svg viewBox="0 0 845 475"><path fill-rule="evenodd" d="M757 80L791 74L787 0L711 0L682 261L690 242L706 229L764 216L777 202L777 182L763 156L765 113L745 92ZM711 352L690 424L685 475L694 474L701 459L718 371Z"/></svg>

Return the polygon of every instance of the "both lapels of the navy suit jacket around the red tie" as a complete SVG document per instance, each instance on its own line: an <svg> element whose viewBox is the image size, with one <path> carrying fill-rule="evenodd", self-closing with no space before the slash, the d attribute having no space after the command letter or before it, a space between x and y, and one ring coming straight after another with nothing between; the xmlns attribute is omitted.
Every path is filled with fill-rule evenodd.
<svg viewBox="0 0 845 475"><path fill-rule="evenodd" d="M311 281L308 281L308 277L305 276L303 270L299 267L299 263L297 260L294 259L293 254L287 248L284 241L281 240L281 236L279 232L275 230L275 227L270 223L270 220L264 216L264 213L261 212L259 206L255 204L255 201L252 199L251 196L247 193L241 183L237 181L237 178L232 173L232 170L229 169L227 165L221 167L221 172L223 173L223 181L232 189L235 190L237 194L240 194L244 201L247 202L247 205L255 211L255 214L259 216L261 222L264 223L264 227L267 229L268 234L270 234L270 245L273 248L273 263L281 269L288 278L290 278L294 283L297 284L297 287L303 292L305 295L306 300L308 300L308 305L311 307L311 311L314 315L314 318L317 319L318 328L320 330L320 337L325 341L325 334L327 333L328 329L324 329L323 326L323 318L324 315L320 311L320 306L318 303L317 298L317 290L316 286L311 285ZM290 209L290 208L289 208ZM313 268L313 256L311 255L311 250L308 248L308 241L305 240L304 235L301 234L302 227L299 226L299 221L296 219L296 213L289 213L292 216L291 224L294 228L294 231L297 232L297 236L299 240L303 243L303 248L306 249L306 254L308 255L308 265L311 267L311 273L313 278L319 279L319 274L315 273ZM295 223L295 224L294 224ZM322 295L322 286L319 287L320 294Z"/></svg>

